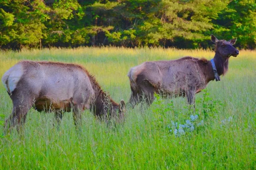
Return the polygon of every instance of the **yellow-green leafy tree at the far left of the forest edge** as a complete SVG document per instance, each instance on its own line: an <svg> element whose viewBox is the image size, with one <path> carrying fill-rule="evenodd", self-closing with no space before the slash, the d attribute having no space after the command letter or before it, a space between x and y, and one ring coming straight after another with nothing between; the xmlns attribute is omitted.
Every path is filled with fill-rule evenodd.
<svg viewBox="0 0 256 170"><path fill-rule="evenodd" d="M50 9L42 1L5 0L0 5L0 46L37 47L47 37L44 22Z"/></svg>

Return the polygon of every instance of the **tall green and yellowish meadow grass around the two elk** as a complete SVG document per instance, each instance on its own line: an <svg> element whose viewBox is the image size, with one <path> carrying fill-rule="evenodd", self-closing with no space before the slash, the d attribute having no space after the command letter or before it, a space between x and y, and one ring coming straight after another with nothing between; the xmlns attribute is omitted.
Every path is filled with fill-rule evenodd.
<svg viewBox="0 0 256 170"><path fill-rule="evenodd" d="M0 76L22 59L79 63L116 102L127 102L130 67L186 55L210 59L214 52L113 47L2 51ZM181 136L168 127L172 121L184 124L189 119L184 98L158 99L149 108L128 109L125 122L114 129L85 111L80 131L75 130L71 113L64 114L58 130L52 126L53 113L31 109L23 134L14 131L0 139L0 169L256 169L255 68L256 51L241 50L238 57L231 57L221 81L208 84L205 98L205 92L196 95L204 125ZM6 118L11 109L1 83L0 114ZM222 123L230 117L230 122Z"/></svg>

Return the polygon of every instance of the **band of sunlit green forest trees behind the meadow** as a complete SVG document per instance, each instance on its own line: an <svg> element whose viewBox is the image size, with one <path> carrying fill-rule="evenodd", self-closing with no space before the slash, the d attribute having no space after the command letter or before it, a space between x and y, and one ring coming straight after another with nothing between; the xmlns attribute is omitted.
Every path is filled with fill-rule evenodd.
<svg viewBox="0 0 256 170"><path fill-rule="evenodd" d="M255 0L0 0L0 48L256 47Z"/></svg>

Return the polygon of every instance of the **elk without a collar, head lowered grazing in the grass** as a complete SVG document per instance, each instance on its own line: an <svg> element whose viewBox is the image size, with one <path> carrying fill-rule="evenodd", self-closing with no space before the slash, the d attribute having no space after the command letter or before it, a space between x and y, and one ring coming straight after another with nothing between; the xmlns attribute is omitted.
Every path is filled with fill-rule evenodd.
<svg viewBox="0 0 256 170"><path fill-rule="evenodd" d="M64 111L73 109L77 127L80 111L93 110L97 117L114 116L123 118L125 104L114 102L94 76L80 65L48 61L20 61L2 77L2 82L13 102L12 114L6 120L10 128L25 123L31 107L37 111L54 112L57 122Z"/></svg>

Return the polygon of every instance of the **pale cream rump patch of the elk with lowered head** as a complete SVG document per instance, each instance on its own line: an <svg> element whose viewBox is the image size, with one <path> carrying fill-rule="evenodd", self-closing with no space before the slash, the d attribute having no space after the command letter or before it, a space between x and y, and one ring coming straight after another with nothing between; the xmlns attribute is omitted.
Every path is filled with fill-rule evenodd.
<svg viewBox="0 0 256 170"><path fill-rule="evenodd" d="M16 88L21 76L23 75L23 66L21 63L15 64L8 71L6 71L2 77L2 82L5 89L12 93Z"/></svg>

